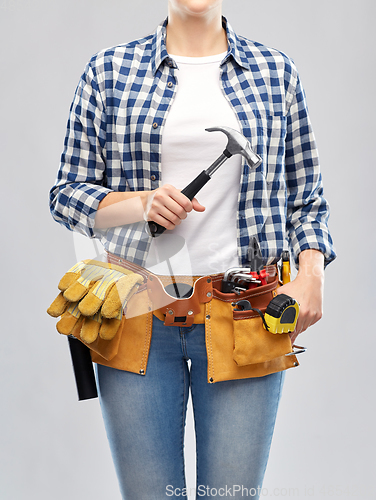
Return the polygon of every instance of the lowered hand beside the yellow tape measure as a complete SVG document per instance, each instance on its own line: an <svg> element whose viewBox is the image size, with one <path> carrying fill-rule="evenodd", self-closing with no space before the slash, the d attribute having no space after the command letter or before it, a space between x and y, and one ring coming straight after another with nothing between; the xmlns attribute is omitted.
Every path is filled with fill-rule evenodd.
<svg viewBox="0 0 376 500"><path fill-rule="evenodd" d="M277 289L299 303L299 317L295 331L290 333L291 343L309 326L322 317L324 293L324 255L318 250L304 250L299 255L299 272L296 278Z"/></svg>

